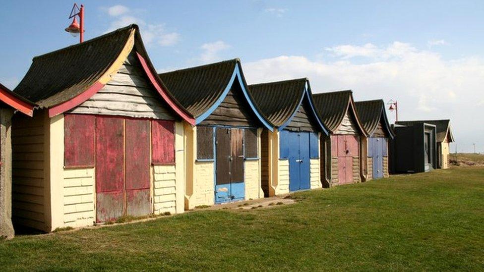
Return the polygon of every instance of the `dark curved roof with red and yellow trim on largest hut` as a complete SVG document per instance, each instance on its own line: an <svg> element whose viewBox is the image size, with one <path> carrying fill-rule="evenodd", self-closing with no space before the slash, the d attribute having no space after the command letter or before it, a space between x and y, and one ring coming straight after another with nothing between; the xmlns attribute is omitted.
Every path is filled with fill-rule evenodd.
<svg viewBox="0 0 484 272"><path fill-rule="evenodd" d="M55 116L97 93L116 74L128 54L137 56L150 82L183 119L194 123L185 109L166 91L144 48L139 28L129 25L81 44L36 56L13 92L49 109Z"/></svg>

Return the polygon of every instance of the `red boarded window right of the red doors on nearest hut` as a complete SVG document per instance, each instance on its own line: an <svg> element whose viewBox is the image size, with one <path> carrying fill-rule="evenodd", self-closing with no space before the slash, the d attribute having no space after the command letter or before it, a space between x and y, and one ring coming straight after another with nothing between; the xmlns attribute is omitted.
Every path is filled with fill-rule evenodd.
<svg viewBox="0 0 484 272"><path fill-rule="evenodd" d="M152 163L175 163L175 123L166 120L151 121Z"/></svg>

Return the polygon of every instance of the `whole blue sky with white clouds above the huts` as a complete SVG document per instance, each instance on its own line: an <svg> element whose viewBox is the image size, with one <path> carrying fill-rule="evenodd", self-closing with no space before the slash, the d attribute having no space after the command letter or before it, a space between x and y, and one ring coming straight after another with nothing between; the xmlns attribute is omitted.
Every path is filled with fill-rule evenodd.
<svg viewBox="0 0 484 272"><path fill-rule="evenodd" d="M484 152L483 1L82 3L86 39L138 23L160 71L240 57L249 83L309 77L313 92L398 100L401 119L451 118L458 150ZM63 31L71 6L2 3L0 82L77 42Z"/></svg>

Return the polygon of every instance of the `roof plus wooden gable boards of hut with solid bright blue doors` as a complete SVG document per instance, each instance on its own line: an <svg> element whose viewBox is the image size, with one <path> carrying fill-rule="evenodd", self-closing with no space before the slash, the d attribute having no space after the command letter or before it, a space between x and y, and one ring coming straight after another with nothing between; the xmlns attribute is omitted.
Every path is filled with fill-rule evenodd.
<svg viewBox="0 0 484 272"><path fill-rule="evenodd" d="M323 131L326 134L314 110L306 78L254 84L249 90L265 118L279 130Z"/></svg>

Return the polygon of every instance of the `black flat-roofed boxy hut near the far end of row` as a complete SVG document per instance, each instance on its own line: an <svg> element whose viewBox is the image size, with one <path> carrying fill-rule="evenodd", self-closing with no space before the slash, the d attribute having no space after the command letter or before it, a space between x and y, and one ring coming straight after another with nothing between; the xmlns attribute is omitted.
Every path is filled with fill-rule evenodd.
<svg viewBox="0 0 484 272"><path fill-rule="evenodd" d="M391 172L427 172L437 167L436 127L424 121L394 124L390 140Z"/></svg>

